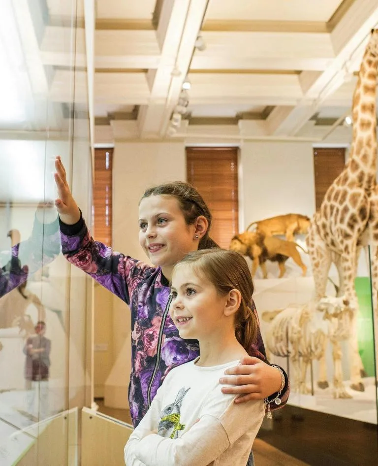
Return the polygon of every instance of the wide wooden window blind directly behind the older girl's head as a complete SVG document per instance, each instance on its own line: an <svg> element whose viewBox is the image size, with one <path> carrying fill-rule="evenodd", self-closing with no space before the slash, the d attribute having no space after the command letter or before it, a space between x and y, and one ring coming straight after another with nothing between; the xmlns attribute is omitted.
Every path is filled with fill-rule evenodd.
<svg viewBox="0 0 378 466"><path fill-rule="evenodd" d="M239 230L238 149L187 147L187 178L213 215L210 236L228 248Z"/></svg>

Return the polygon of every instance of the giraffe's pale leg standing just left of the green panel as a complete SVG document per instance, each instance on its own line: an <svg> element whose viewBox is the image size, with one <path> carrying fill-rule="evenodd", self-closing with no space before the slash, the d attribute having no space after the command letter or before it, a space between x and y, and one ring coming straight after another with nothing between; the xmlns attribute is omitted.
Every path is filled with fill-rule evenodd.
<svg viewBox="0 0 378 466"><path fill-rule="evenodd" d="M358 351L358 336L357 336L357 316L358 316L358 300L354 287L354 280L357 271L357 247L355 242L350 242L345 245L344 254L341 256L341 265L345 289L345 297L354 305L355 310L350 319L350 337L348 341L349 346L349 360L350 360L350 387L353 390L363 392L365 387L362 383L361 370L363 365Z"/></svg>

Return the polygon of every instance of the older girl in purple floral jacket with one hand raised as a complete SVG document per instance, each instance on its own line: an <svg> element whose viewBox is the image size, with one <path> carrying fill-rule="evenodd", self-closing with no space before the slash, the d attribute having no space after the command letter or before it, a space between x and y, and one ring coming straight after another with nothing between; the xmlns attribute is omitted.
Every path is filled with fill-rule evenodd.
<svg viewBox="0 0 378 466"><path fill-rule="evenodd" d="M94 241L69 191L59 156L55 166L63 254L124 300L131 310L128 397L132 422L137 426L168 372L199 355L198 342L182 339L168 316L169 280L173 267L185 254L217 246L208 234L211 214L187 183L167 183L147 190L139 204L139 241L154 265L148 266ZM249 354L264 359L264 353L258 332ZM221 383L232 386L226 385L222 391L244 395L237 399L239 402L269 397L267 405L273 409L288 398L286 375L261 359L244 357L226 374L229 377L223 376Z"/></svg>

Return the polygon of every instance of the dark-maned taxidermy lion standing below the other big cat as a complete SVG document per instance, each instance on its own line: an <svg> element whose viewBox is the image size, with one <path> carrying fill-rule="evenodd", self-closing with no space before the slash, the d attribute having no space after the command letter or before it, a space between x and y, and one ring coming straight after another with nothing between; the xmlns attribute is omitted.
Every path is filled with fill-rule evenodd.
<svg viewBox="0 0 378 466"><path fill-rule="evenodd" d="M260 266L264 278L268 277L265 266L267 260L278 262L278 266L280 267L279 278L281 278L286 271L285 262L289 257L301 267L303 276L305 276L307 267L303 264L297 247L305 251L299 244L293 241L285 241L275 236L264 236L261 233L252 232L237 234L231 239L230 244L230 249L243 256L249 256L252 259L252 277L254 277L257 267Z"/></svg>

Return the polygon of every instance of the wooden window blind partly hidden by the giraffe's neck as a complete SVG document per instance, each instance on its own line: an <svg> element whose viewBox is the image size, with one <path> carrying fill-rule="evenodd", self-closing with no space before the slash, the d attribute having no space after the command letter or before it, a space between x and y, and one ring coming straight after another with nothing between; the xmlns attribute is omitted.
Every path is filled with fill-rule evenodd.
<svg viewBox="0 0 378 466"><path fill-rule="evenodd" d="M314 148L315 204L320 208L324 195L345 167L345 148Z"/></svg>

